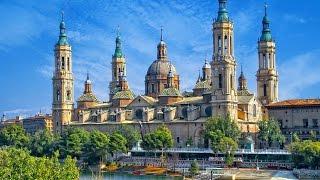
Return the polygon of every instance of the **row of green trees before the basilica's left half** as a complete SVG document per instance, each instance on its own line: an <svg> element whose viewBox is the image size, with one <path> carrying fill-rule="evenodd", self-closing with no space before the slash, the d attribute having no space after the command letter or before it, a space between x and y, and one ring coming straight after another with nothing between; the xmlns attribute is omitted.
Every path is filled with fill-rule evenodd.
<svg viewBox="0 0 320 180"><path fill-rule="evenodd" d="M39 131L30 136L17 125L5 127L0 132L0 146L24 148L37 157L52 157L58 151L60 159L71 156L89 164L98 163L109 154L126 153L139 139L140 134L129 126L122 126L112 134L69 128L61 135Z"/></svg>

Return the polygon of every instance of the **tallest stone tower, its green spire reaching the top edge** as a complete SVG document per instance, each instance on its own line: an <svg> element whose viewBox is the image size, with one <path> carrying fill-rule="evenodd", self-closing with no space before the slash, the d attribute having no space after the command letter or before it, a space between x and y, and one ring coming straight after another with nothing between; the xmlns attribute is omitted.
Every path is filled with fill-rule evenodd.
<svg viewBox="0 0 320 180"><path fill-rule="evenodd" d="M219 0L218 17L213 23L212 113L237 120L236 60L233 23L228 17L227 0Z"/></svg>

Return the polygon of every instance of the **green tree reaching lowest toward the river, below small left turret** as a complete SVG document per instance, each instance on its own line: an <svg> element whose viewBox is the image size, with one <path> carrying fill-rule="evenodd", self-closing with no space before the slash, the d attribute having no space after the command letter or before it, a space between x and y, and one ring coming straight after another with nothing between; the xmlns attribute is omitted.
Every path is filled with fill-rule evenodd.
<svg viewBox="0 0 320 180"><path fill-rule="evenodd" d="M96 164L108 154L109 136L94 130L90 133L89 140L85 144L85 155L90 164Z"/></svg>

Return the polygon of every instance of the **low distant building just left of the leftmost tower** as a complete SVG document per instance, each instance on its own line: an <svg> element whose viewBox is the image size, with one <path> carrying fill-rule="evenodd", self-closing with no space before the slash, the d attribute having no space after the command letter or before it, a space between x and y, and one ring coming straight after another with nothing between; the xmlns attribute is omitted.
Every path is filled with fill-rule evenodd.
<svg viewBox="0 0 320 180"><path fill-rule="evenodd" d="M22 126L26 133L34 134L37 131L52 131L52 116L49 114L38 114L22 120Z"/></svg>

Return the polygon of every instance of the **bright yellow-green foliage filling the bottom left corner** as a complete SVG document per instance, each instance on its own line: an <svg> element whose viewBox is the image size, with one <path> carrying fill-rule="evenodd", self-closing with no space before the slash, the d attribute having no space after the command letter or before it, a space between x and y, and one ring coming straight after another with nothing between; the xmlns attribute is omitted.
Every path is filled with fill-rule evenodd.
<svg viewBox="0 0 320 180"><path fill-rule="evenodd" d="M73 180L79 179L79 169L69 156L60 162L57 156L34 157L11 147L0 149L0 179Z"/></svg>

